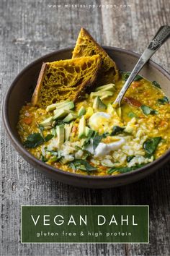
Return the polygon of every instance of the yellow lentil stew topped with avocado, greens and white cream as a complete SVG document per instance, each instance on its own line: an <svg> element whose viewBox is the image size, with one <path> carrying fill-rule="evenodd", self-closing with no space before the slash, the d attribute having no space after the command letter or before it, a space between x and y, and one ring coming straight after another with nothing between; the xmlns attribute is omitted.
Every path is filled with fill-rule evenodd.
<svg viewBox="0 0 170 256"><path fill-rule="evenodd" d="M156 81L139 75L121 108L113 102L129 76L46 109L27 103L17 129L35 158L76 174L117 175L151 163L169 149L170 104Z"/></svg>

